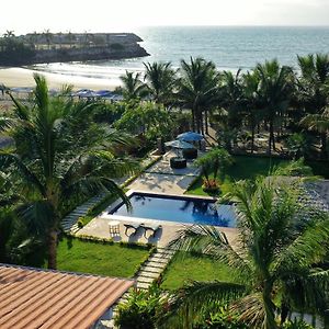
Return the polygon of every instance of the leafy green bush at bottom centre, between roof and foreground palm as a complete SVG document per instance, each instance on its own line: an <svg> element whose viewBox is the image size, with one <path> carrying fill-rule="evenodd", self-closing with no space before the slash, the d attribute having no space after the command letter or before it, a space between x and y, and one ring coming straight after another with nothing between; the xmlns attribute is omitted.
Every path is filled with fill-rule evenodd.
<svg viewBox="0 0 329 329"><path fill-rule="evenodd" d="M148 291L134 290L127 300L118 305L114 319L120 329L155 329L158 320L167 313L168 298L152 285Z"/></svg>

